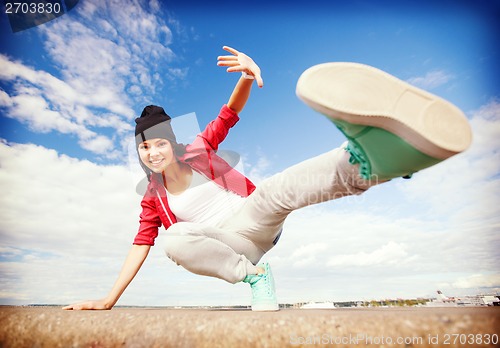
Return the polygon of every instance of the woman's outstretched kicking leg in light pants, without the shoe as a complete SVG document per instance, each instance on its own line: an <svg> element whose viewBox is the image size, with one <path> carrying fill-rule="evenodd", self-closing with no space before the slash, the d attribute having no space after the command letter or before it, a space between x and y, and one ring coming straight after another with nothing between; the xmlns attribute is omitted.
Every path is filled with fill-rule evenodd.
<svg viewBox="0 0 500 348"><path fill-rule="evenodd" d="M344 146L296 164L258 185L240 212L222 229L239 231L266 252L292 211L336 198L359 195L376 181L362 179ZM274 242L274 243L273 243Z"/></svg>

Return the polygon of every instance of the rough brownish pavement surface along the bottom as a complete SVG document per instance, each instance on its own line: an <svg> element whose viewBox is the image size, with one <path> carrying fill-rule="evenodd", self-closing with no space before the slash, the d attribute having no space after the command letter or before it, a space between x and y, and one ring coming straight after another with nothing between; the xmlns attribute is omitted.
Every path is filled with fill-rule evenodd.
<svg viewBox="0 0 500 348"><path fill-rule="evenodd" d="M0 306L0 347L498 347L500 307L163 308Z"/></svg>

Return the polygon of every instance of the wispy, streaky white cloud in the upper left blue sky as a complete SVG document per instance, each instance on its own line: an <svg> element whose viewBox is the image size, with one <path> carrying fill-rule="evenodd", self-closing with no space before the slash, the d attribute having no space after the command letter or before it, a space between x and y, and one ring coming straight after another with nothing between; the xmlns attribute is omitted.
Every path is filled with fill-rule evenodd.
<svg viewBox="0 0 500 348"><path fill-rule="evenodd" d="M74 134L82 148L117 158L123 149L107 132L121 137L132 129L132 105L161 90L158 70L175 57L172 32L158 11L157 1L88 0L38 27L59 77L0 55L0 79L11 84L0 91L5 116L35 132ZM187 74L184 68L164 71L174 80ZM111 148L103 151L100 144Z"/></svg>

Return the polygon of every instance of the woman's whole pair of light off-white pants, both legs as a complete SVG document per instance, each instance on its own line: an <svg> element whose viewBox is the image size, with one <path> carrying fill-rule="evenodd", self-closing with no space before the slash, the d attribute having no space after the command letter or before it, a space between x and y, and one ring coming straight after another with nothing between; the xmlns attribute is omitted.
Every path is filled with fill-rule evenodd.
<svg viewBox="0 0 500 348"><path fill-rule="evenodd" d="M167 256L190 272L236 283L256 274L256 264L277 242L292 211L361 194L363 180L343 147L292 166L263 181L243 207L217 226L179 222L166 233Z"/></svg>

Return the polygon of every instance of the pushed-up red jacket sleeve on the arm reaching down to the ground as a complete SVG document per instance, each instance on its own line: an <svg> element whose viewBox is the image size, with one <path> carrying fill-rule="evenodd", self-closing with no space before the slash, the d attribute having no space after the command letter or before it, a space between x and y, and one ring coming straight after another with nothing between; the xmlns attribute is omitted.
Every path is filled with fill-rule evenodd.
<svg viewBox="0 0 500 348"><path fill-rule="evenodd" d="M161 219L156 210L154 198L144 197L141 207L139 232L135 236L134 244L153 246L156 237L158 237L158 228L161 226Z"/></svg>

